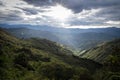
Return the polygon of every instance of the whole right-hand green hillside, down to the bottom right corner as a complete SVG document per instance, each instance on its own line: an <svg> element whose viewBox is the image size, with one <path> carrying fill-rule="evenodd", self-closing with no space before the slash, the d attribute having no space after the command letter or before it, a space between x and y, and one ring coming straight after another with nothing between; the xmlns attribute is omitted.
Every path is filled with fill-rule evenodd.
<svg viewBox="0 0 120 80"><path fill-rule="evenodd" d="M120 80L120 39L90 49L81 56L103 64L95 73L95 80Z"/></svg>

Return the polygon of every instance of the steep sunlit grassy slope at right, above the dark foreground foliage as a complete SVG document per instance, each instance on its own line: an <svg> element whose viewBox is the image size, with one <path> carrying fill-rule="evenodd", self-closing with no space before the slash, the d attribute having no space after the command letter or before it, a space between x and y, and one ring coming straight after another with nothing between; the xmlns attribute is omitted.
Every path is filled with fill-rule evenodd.
<svg viewBox="0 0 120 80"><path fill-rule="evenodd" d="M117 54L120 54L120 39L103 43L98 47L87 50L80 56L104 63L108 57Z"/></svg>

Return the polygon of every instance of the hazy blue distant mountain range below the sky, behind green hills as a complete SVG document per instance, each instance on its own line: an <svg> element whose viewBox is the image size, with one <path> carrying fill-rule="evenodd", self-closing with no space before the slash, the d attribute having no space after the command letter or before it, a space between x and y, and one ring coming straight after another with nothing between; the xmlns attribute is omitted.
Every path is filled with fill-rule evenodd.
<svg viewBox="0 0 120 80"><path fill-rule="evenodd" d="M103 42L120 38L120 29L115 27L95 29L65 29L48 26L37 26L38 29L35 29L32 26L29 27L7 28L6 31L18 38L45 38L77 50L90 49Z"/></svg>

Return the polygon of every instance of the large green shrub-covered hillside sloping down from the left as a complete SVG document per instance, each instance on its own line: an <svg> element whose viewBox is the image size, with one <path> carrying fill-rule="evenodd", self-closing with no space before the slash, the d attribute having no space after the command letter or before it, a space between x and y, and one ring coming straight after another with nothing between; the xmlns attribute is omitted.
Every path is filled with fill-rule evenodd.
<svg viewBox="0 0 120 80"><path fill-rule="evenodd" d="M101 64L46 39L18 39L0 29L0 80L93 80Z"/></svg>

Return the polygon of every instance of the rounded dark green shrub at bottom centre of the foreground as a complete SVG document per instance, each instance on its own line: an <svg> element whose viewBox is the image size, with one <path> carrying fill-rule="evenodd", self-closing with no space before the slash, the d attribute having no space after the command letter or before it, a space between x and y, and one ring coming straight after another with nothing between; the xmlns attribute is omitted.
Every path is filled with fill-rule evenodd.
<svg viewBox="0 0 120 80"><path fill-rule="evenodd" d="M71 67L57 63L43 64L39 68L39 73L44 77L54 80L69 80L73 76Z"/></svg>

